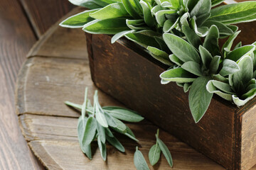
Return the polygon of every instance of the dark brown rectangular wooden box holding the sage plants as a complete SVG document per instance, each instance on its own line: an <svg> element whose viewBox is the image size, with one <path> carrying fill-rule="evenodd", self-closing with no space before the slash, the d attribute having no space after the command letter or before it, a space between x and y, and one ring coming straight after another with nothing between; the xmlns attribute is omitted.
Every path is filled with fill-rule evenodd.
<svg viewBox="0 0 256 170"><path fill-rule="evenodd" d="M188 93L176 83L162 85L159 74L166 67L142 47L125 38L111 44L110 35L86 35L92 80L98 88L227 169L256 164L256 98L238 108L214 96L196 124ZM256 40L255 35L251 39Z"/></svg>

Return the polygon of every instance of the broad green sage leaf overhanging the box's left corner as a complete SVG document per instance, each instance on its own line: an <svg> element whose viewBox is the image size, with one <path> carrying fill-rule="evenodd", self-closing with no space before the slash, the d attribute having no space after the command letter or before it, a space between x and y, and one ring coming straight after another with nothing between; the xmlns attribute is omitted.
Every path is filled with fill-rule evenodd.
<svg viewBox="0 0 256 170"><path fill-rule="evenodd" d="M129 28L126 25L126 18L111 18L91 21L85 24L82 30L93 34L116 34Z"/></svg>

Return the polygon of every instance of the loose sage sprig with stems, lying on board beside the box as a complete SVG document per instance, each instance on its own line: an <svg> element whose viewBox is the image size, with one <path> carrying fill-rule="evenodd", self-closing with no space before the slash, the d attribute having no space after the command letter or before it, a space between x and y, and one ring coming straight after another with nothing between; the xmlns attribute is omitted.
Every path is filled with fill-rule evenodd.
<svg viewBox="0 0 256 170"><path fill-rule="evenodd" d="M106 141L120 152L125 151L122 144L114 137L112 130L126 135L132 140L139 141L132 130L121 120L139 122L144 118L126 108L117 106L105 106L102 108L97 96L97 90L95 91L93 106L90 100L87 99L87 88L85 89L85 100L82 105L70 101L66 101L65 104L81 111L81 116L78 118L78 141L82 152L89 159L92 159L91 143L94 140L97 140L103 160L107 159Z"/></svg>

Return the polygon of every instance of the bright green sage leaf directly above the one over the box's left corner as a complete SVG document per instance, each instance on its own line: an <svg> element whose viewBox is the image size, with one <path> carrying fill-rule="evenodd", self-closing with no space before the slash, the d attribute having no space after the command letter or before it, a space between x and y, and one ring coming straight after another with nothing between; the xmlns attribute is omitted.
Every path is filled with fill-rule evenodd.
<svg viewBox="0 0 256 170"><path fill-rule="evenodd" d="M94 13L90 13L90 17L98 20L119 18L124 16L129 16L129 13L127 13L122 3L110 4L98 11L95 11Z"/></svg>

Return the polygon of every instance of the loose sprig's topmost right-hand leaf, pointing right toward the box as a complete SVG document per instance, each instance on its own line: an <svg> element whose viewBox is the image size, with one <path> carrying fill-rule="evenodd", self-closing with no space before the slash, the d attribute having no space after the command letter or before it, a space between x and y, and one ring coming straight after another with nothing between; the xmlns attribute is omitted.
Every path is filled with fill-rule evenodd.
<svg viewBox="0 0 256 170"><path fill-rule="evenodd" d="M107 106L103 107L103 109L107 111L107 113L109 113L112 117L127 122L140 122L144 119L141 115L138 115L136 112L121 107Z"/></svg>

